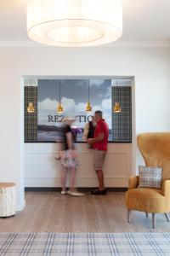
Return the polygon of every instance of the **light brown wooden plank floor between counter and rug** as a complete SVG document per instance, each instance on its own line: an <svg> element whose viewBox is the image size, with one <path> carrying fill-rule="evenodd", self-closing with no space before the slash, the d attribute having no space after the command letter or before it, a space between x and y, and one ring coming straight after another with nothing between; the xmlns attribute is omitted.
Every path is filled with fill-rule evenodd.
<svg viewBox="0 0 170 256"><path fill-rule="evenodd" d="M26 208L14 218L0 218L1 232L170 232L158 214L156 230L143 212L133 212L127 224L124 193L71 197L56 192L26 192Z"/></svg>

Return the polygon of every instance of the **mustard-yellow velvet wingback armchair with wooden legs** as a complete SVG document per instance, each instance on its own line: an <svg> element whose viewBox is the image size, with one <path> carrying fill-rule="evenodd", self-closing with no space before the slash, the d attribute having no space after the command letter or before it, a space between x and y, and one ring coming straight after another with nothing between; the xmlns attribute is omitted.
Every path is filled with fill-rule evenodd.
<svg viewBox="0 0 170 256"><path fill-rule="evenodd" d="M161 189L138 188L139 176L130 177L126 193L127 219L130 222L132 210L152 213L153 228L156 227L156 213L164 213L170 221L170 132L144 133L138 137L138 145L146 166L161 166Z"/></svg>

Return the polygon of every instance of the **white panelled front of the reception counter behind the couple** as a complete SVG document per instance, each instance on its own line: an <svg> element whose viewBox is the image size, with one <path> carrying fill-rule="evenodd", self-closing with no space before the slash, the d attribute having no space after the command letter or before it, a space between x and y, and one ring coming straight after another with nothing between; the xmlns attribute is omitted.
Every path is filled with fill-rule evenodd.
<svg viewBox="0 0 170 256"><path fill-rule="evenodd" d="M79 166L77 187L96 187L98 182L93 169L93 149L86 143L77 143ZM54 159L59 143L25 143L25 187L60 187L60 160ZM105 186L127 187L132 174L132 143L109 143L105 157Z"/></svg>

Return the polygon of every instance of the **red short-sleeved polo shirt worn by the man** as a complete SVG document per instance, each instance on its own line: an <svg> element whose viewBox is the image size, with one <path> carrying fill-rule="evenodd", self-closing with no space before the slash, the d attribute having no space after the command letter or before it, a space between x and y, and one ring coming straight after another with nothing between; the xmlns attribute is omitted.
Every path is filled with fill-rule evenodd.
<svg viewBox="0 0 170 256"><path fill-rule="evenodd" d="M99 133L104 133L104 139L99 143L94 143L94 149L107 151L109 127L105 122L105 119L100 119L99 122L97 122L95 131L94 131L94 137L98 137Z"/></svg>

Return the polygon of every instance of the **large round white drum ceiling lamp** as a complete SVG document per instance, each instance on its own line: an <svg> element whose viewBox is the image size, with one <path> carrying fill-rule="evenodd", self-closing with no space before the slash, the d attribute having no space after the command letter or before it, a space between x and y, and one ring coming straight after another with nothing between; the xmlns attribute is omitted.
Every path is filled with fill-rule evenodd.
<svg viewBox="0 0 170 256"><path fill-rule="evenodd" d="M28 0L27 31L48 45L108 44L122 37L122 0Z"/></svg>

